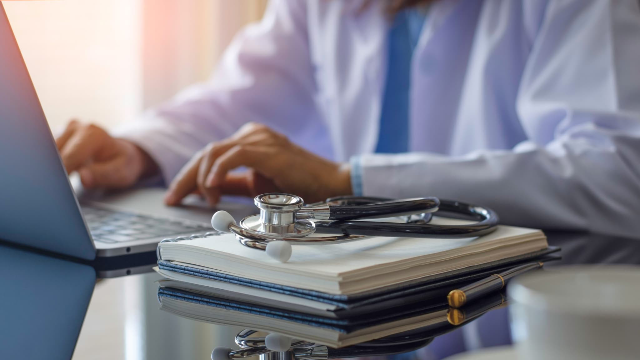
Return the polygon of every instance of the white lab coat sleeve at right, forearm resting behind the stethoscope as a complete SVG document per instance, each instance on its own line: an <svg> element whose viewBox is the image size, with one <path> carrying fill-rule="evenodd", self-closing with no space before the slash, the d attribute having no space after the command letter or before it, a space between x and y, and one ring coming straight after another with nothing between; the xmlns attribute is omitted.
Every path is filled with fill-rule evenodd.
<svg viewBox="0 0 640 360"><path fill-rule="evenodd" d="M637 236L637 1L551 1L516 107L531 140L456 158L365 155L364 195L433 195L493 208L503 224Z"/></svg>

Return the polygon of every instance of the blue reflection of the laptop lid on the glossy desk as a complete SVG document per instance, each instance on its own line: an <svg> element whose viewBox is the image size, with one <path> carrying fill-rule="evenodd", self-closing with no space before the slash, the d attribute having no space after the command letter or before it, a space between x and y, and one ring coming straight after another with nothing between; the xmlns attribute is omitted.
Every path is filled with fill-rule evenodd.
<svg viewBox="0 0 640 360"><path fill-rule="evenodd" d="M95 270L0 245L0 359L69 359Z"/></svg>

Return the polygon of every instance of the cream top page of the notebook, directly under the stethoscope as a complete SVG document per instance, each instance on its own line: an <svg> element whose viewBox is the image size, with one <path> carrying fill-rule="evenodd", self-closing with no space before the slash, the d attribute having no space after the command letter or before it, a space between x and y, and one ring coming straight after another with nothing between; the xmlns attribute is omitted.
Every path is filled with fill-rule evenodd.
<svg viewBox="0 0 640 360"><path fill-rule="evenodd" d="M197 247L213 250L220 257L214 259L216 269L235 274L252 272L257 268L268 268L291 274L312 274L315 277L340 277L362 268L391 265L396 261L417 261L428 258L430 261L478 251L498 246L505 241L522 241L526 238L543 238L539 230L500 225L491 234L481 238L465 239L425 239L371 237L351 243L331 245L293 246L293 254L287 263L279 263L260 250L241 245L233 234L223 234L214 238L201 238L164 243L165 251L170 247L192 247L190 252L202 252ZM196 247L195 249L193 247ZM167 254L169 251L167 251ZM202 258L198 256L198 258ZM197 262L187 259L171 258L186 263ZM424 263L426 261L420 261ZM247 264L249 264L250 269ZM324 276L323 276L324 275Z"/></svg>

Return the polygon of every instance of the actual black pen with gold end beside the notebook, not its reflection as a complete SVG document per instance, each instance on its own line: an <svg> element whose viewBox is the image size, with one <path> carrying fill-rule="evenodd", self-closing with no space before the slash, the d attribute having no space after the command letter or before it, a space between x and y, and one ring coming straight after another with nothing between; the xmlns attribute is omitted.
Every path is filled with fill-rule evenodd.
<svg viewBox="0 0 640 360"><path fill-rule="evenodd" d="M536 261L535 263L516 266L500 274L493 274L485 279L463 286L460 289L451 290L449 295L447 295L447 302L449 302L449 306L451 307L461 307L474 299L503 289L506 282L511 278L531 270L539 269L542 265L543 263L541 261Z"/></svg>

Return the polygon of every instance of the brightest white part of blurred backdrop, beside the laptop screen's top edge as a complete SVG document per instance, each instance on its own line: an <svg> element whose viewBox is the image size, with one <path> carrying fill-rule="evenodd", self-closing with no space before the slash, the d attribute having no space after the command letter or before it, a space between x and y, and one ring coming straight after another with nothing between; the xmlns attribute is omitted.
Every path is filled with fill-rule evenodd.
<svg viewBox="0 0 640 360"><path fill-rule="evenodd" d="M111 125L140 112L141 0L3 4L53 129L72 117Z"/></svg>

